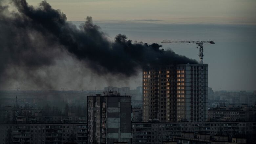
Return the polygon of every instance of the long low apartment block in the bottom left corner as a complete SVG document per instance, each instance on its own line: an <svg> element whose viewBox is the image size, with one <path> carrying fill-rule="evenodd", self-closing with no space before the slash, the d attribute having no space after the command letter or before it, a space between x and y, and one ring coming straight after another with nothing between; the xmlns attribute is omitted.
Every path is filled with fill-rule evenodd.
<svg viewBox="0 0 256 144"><path fill-rule="evenodd" d="M3 124L0 144L87 144L87 123Z"/></svg>

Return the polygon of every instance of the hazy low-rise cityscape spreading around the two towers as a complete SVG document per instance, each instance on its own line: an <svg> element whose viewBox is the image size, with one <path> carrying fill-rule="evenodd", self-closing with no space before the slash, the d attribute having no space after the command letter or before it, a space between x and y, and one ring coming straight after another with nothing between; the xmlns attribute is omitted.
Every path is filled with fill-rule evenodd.
<svg viewBox="0 0 256 144"><path fill-rule="evenodd" d="M210 137L202 138L210 143L212 135L219 136L218 138L222 135L221 139L217 138L215 141L224 142L235 136L251 140L251 136L255 134L256 91L229 92L213 91L208 88L207 119L193 122L181 120L176 123L176 120L156 120L156 118L144 122L142 90L142 86L138 86L135 90L129 87L108 86L102 90L88 91L1 91L0 121L3 130L1 131L1 143L6 143L6 140L19 142L21 139L38 143L52 141L90 143L89 138L96 137L96 135L91 136L88 132L87 124L90 123L88 116L91 111L87 107L87 96L103 95L103 92L119 92L121 96L130 97L130 104L128 104L130 108L125 108L126 113L131 114L129 118L131 121L127 124L131 128L129 131L127 130L130 135L123 135L121 140L114 141L124 139L128 143L162 143L173 139L176 141L186 140L185 136L182 138L181 134L190 134L188 138L191 138L191 133L194 133L201 134L201 136L211 135L211 139ZM110 119L110 116L108 118ZM110 126L110 124L108 125ZM32 128L33 126L34 128ZM169 128L169 126L171 127ZM67 129L68 127L70 129ZM74 129L71 129L72 127ZM64 128L67 133L64 133ZM153 138L154 136L155 138ZM225 138L225 136L227 137ZM200 142L202 139L198 138L194 141ZM108 143L114 141L111 139ZM103 141L98 143L103 143Z"/></svg>

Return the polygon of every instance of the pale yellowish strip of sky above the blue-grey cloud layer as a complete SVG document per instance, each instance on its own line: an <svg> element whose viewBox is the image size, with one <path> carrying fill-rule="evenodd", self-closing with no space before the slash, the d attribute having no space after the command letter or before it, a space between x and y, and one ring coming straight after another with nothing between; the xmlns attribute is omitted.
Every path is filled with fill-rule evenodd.
<svg viewBox="0 0 256 144"><path fill-rule="evenodd" d="M28 0L37 5L40 0ZM162 23L255 24L255 0L47 0L69 21L160 20Z"/></svg>

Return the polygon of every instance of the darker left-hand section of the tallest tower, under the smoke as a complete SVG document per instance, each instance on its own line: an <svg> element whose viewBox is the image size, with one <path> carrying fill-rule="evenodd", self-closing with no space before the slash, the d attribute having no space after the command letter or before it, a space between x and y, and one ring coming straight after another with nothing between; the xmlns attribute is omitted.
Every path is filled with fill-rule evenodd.
<svg viewBox="0 0 256 144"><path fill-rule="evenodd" d="M177 67L143 69L143 121L176 121Z"/></svg>

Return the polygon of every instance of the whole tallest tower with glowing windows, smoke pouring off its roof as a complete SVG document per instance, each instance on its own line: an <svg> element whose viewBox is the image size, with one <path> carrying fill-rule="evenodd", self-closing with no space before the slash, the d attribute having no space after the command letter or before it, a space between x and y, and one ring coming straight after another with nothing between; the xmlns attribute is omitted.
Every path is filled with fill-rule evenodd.
<svg viewBox="0 0 256 144"><path fill-rule="evenodd" d="M207 65L143 69L143 122L206 121Z"/></svg>

